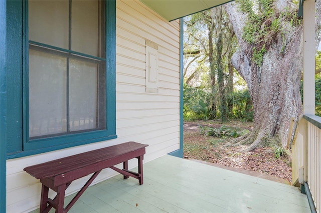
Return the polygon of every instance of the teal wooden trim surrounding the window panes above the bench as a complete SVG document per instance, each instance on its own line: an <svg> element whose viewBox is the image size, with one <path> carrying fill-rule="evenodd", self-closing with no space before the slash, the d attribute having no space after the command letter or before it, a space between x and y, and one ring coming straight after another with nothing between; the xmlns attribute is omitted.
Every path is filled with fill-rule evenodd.
<svg viewBox="0 0 321 213"><path fill-rule="evenodd" d="M108 139L117 138L116 135L116 1L115 0L106 0L105 7L106 7L106 129L103 130L94 130L82 133L72 133L68 135L61 135L52 138L42 138L42 139L35 139L29 140L28 136L28 73L26 72L28 66L28 52L29 52L29 42L28 42L28 1L19 1L20 4L17 2L15 6L21 7L18 11L14 11L16 8L12 9L12 15L21 15L21 14L14 14L16 12L21 12L23 14L22 22L20 23L21 27L23 28L22 32L22 58L21 64L23 64L22 69L24 73L23 80L21 80L23 86L23 97L15 97L14 102L20 103L23 108L23 116L21 119L23 120L23 130L21 132L21 127L19 125L15 125L12 123L12 126L15 130L12 130L12 134L18 133L18 135L14 136L14 140L12 144L8 144L7 147L10 147L7 153L7 158L16 158L22 157L37 153L43 153L47 151L53 151L61 148L67 148L77 145L88 144L92 142L98 142ZM17 24L19 25L19 23ZM9 32L7 33L9 34ZM33 42L33 41L32 41ZM37 43L38 45L45 45L41 43ZM19 45L13 47L11 51L17 51ZM20 46L20 48L21 48ZM16 49L14 49L16 48ZM69 50L68 50L69 51ZM71 52L74 53L74 52ZM83 56L87 56L86 54L82 54ZM93 59L101 59L101 58L94 58ZM13 83L13 82L11 82ZM13 89L15 90L15 88ZM18 90L16 90L18 91ZM19 99L22 99L19 100ZM22 121L18 120L18 121ZM17 122L18 122L17 121ZM21 132L21 133L20 133ZM20 135L19 135L20 133ZM21 135L22 134L22 135ZM19 139L18 139L19 138ZM20 145L19 143L23 144ZM48 145L49 144L49 145Z"/></svg>

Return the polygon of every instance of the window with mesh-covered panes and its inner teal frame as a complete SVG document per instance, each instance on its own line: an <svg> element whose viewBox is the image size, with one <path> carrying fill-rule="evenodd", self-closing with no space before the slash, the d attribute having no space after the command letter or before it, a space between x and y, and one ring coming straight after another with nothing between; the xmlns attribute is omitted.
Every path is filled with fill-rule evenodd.
<svg viewBox="0 0 321 213"><path fill-rule="evenodd" d="M26 4L24 151L115 138L115 2Z"/></svg>

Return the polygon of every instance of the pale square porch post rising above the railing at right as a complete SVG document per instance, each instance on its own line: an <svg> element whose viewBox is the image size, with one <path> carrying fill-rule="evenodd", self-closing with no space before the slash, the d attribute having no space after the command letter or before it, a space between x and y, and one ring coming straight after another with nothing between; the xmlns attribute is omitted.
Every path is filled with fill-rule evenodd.
<svg viewBox="0 0 321 213"><path fill-rule="evenodd" d="M303 1L303 114L315 112L315 2Z"/></svg>

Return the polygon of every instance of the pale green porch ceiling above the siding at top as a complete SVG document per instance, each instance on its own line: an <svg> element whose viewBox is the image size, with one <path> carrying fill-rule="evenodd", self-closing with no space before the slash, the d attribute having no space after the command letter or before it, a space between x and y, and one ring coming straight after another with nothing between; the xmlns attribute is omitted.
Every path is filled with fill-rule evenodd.
<svg viewBox="0 0 321 213"><path fill-rule="evenodd" d="M140 0L149 8L171 21L232 0Z"/></svg>

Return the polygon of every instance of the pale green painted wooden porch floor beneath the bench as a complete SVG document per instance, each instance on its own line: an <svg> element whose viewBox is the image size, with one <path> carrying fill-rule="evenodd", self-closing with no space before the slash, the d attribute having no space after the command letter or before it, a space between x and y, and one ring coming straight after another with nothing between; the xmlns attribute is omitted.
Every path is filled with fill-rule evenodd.
<svg viewBox="0 0 321 213"><path fill-rule="evenodd" d="M66 197L66 201L72 196ZM69 212L310 212L310 209L306 195L296 187L165 155L144 164L143 185L134 178L114 176L90 186Z"/></svg>

